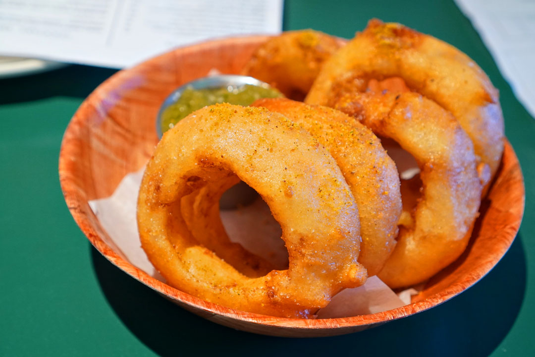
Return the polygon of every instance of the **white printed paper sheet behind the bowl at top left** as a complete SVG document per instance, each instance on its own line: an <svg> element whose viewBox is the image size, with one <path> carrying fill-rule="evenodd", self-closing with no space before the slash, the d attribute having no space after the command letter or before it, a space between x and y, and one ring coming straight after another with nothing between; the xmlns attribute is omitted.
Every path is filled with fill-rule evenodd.
<svg viewBox="0 0 535 357"><path fill-rule="evenodd" d="M0 1L0 55L116 68L179 45L281 29L282 0Z"/></svg>

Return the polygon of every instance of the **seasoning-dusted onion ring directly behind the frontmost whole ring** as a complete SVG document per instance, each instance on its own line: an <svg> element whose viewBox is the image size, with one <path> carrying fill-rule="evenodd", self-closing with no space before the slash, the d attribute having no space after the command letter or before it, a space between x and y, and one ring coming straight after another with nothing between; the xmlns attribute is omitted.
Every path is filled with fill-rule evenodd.
<svg viewBox="0 0 535 357"><path fill-rule="evenodd" d="M284 98L252 105L285 115L329 150L357 202L362 236L358 262L369 276L378 274L396 243L401 194L396 165L377 136L354 118L319 105Z"/></svg>

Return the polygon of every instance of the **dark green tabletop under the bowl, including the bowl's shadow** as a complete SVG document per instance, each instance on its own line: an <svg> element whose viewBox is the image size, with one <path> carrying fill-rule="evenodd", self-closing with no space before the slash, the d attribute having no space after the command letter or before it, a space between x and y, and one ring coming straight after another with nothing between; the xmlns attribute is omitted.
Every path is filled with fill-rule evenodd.
<svg viewBox="0 0 535 357"><path fill-rule="evenodd" d="M57 170L62 135L84 98L115 72L70 65L0 80L0 356L535 355L535 120L453 2L288 0L284 29L349 38L373 17L452 43L500 90L526 206L513 245L485 278L429 311L329 338L258 336L182 310L104 259L67 210Z"/></svg>

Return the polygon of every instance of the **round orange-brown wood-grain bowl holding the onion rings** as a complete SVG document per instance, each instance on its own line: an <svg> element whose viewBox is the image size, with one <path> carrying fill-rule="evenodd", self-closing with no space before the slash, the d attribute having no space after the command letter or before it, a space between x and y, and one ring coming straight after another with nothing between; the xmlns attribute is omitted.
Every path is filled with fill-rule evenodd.
<svg viewBox="0 0 535 357"><path fill-rule="evenodd" d="M127 173L141 169L148 161L158 141L156 113L173 89L207 75L212 69L240 73L252 52L266 38L240 37L176 49L118 72L82 103L63 138L59 177L67 206L91 244L128 275L185 309L222 325L273 336L331 336L360 331L439 305L484 277L513 242L524 210L522 172L508 142L468 249L433 277L407 306L325 320L258 315L197 299L159 282L125 259L103 230L88 201L110 196Z"/></svg>

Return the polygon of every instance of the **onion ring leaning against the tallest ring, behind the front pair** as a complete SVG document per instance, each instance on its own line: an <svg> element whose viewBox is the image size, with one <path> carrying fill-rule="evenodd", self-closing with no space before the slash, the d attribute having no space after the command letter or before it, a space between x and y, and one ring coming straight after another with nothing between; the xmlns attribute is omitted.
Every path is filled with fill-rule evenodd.
<svg viewBox="0 0 535 357"><path fill-rule="evenodd" d="M422 282L457 259L470 239L482 192L472 142L451 113L416 93L346 94L335 108L415 157L422 196L379 277L392 288Z"/></svg>

